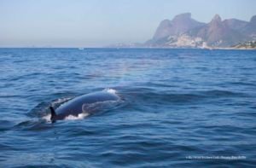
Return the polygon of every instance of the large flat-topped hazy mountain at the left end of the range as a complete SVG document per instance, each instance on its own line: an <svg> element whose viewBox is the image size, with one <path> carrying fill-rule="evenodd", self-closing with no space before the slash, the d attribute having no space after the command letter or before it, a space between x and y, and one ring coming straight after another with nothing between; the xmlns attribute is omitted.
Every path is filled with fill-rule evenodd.
<svg viewBox="0 0 256 168"><path fill-rule="evenodd" d="M163 20L160 22L154 37L148 40L148 44L161 44L167 42L170 36L179 36L197 26L203 26L204 23L193 20L190 13L178 14L173 20Z"/></svg>

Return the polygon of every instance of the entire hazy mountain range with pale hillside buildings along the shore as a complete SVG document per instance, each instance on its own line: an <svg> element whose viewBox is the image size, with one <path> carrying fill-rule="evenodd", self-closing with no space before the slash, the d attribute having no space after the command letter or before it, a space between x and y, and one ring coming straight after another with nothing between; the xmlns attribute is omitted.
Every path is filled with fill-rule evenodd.
<svg viewBox="0 0 256 168"><path fill-rule="evenodd" d="M145 47L225 48L256 40L256 15L244 20L222 20L216 14L209 23L191 18L190 13L178 14L172 20L162 20Z"/></svg>

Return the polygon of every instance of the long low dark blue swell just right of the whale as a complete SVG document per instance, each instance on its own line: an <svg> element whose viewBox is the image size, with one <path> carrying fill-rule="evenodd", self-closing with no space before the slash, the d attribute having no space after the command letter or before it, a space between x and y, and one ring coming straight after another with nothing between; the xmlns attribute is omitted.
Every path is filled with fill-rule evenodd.
<svg viewBox="0 0 256 168"><path fill-rule="evenodd" d="M233 97L247 97L248 95L243 92L234 90L184 90L183 92L177 91L157 91L137 89L126 92L128 99L134 101L133 103L141 105L142 102L150 103L201 103L202 101L212 101L224 98ZM128 94L129 93L129 94Z"/></svg>

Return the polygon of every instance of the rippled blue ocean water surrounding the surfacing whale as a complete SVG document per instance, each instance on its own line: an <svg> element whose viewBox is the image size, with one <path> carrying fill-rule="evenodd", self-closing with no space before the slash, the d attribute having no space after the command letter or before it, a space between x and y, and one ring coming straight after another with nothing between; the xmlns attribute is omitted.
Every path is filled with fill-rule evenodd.
<svg viewBox="0 0 256 168"><path fill-rule="evenodd" d="M120 106L50 123L110 90ZM256 166L256 51L0 49L0 167Z"/></svg>

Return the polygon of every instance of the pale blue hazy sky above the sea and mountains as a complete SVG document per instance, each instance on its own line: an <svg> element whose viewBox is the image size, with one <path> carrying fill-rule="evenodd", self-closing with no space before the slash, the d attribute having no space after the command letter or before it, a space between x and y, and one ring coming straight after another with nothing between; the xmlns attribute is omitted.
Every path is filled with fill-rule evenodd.
<svg viewBox="0 0 256 168"><path fill-rule="evenodd" d="M250 20L255 0L0 0L0 47L99 47L144 42L161 20Z"/></svg>

